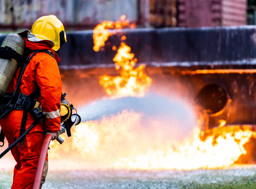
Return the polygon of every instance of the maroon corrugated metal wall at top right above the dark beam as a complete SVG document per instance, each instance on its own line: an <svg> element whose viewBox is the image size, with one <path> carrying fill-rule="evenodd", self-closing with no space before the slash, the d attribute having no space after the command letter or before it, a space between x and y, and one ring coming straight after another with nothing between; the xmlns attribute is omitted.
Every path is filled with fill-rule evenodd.
<svg viewBox="0 0 256 189"><path fill-rule="evenodd" d="M246 25L247 0L150 0L154 27Z"/></svg>

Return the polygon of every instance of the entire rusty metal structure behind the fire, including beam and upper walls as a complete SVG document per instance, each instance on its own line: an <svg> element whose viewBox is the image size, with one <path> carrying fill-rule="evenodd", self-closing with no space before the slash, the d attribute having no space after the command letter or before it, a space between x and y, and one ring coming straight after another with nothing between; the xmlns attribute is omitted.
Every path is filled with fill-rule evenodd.
<svg viewBox="0 0 256 189"><path fill-rule="evenodd" d="M147 66L152 88L168 78L169 91L184 96L185 90L208 111L209 128L218 127L219 120L256 124L256 29L245 26L256 24L255 0L0 0L0 6L0 28L7 32L31 29L35 20L49 14L64 23L68 42L59 52L59 68L73 87L78 82L74 78L82 80L83 88L94 78L92 91L102 96L98 78L116 76L113 46L119 47L125 35L137 63ZM92 29L121 15L137 28L116 30L104 51L93 51ZM0 43L5 36L0 35ZM96 96L74 91L76 99Z"/></svg>

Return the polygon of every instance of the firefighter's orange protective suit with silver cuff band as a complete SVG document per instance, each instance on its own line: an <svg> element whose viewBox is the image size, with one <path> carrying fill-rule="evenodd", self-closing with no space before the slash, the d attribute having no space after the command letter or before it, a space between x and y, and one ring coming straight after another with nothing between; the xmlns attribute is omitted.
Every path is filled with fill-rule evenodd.
<svg viewBox="0 0 256 189"><path fill-rule="evenodd" d="M58 132L60 130L60 114L62 82L57 62L60 61L55 52L42 42L30 42L26 38L26 48L31 50L48 49L52 51L54 58L44 52L39 52L32 57L27 65L20 85L20 93L29 95L36 86L41 90L41 109L46 116L44 121L36 124L23 139L21 147L15 146L11 152L17 164L14 168L12 189L32 189L35 172L41 147L44 141L45 131ZM9 85L8 92L14 92L20 68ZM20 136L20 124L23 110L13 110L0 119L0 125L9 144L12 144ZM26 130L34 122L30 113L26 121Z"/></svg>

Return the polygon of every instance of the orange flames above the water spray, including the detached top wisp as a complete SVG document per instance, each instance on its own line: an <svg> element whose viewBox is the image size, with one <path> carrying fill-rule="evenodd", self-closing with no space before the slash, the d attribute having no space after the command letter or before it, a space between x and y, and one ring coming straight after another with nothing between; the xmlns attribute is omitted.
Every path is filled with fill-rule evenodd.
<svg viewBox="0 0 256 189"><path fill-rule="evenodd" d="M122 28L129 23L125 20L124 15L120 20L121 21L115 23L105 21L96 26L93 33L94 51L99 51L101 47L105 46L105 41L113 34L113 32L111 33L108 29ZM131 48L123 42L125 39L125 36L121 37L122 42L117 50L116 56L113 58L116 70L120 70L120 76L100 76L99 84L105 88L106 93L111 96L111 98L125 96L143 97L145 91L151 86L152 79L144 73L145 65L139 65L137 68L134 68L137 59L134 58L134 54L131 53ZM115 51L116 46L113 46L112 49Z"/></svg>

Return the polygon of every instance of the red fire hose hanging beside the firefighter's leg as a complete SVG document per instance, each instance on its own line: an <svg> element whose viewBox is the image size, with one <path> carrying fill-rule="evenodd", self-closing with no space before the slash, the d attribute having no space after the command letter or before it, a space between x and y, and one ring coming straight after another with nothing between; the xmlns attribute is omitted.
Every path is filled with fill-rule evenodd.
<svg viewBox="0 0 256 189"><path fill-rule="evenodd" d="M52 134L48 133L44 138L44 143L43 143L41 154L38 161L38 168L36 169L36 173L35 173L35 181L33 184L33 189L40 188L42 175L44 171L44 163L45 163L47 151L48 151L51 140L52 140Z"/></svg>

